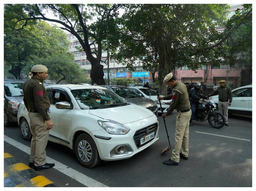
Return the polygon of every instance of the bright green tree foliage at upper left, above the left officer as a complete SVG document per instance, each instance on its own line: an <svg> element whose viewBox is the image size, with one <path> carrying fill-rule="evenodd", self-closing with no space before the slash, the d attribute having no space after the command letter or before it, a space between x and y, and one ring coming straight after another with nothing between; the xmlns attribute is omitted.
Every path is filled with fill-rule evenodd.
<svg viewBox="0 0 256 191"><path fill-rule="evenodd" d="M26 73L31 70L27 63L32 62L35 57L47 58L67 52L65 33L56 25L50 26L44 21L33 22L18 31L6 27L4 34L4 60L11 66L8 71L16 79L22 70Z"/></svg>

